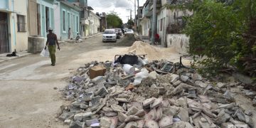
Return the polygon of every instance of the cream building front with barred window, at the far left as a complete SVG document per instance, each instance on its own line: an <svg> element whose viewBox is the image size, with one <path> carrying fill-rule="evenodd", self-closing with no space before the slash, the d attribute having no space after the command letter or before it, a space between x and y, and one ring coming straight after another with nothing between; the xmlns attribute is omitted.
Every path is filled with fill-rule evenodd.
<svg viewBox="0 0 256 128"><path fill-rule="evenodd" d="M26 50L27 0L0 1L0 53Z"/></svg>

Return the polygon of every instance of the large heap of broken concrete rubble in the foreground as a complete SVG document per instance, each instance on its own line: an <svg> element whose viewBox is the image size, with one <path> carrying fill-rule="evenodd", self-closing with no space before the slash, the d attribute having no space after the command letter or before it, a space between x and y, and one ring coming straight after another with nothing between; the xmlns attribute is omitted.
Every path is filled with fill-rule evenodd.
<svg viewBox="0 0 256 128"><path fill-rule="evenodd" d="M92 62L63 90L72 103L59 119L70 127L254 127L252 112L234 102L233 87L242 90L239 82L212 83L182 63Z"/></svg>

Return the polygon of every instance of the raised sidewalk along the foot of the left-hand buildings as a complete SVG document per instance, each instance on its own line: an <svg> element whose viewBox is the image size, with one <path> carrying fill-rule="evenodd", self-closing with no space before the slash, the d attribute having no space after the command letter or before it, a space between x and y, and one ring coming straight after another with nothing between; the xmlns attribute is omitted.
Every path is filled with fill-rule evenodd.
<svg viewBox="0 0 256 128"><path fill-rule="evenodd" d="M97 33L95 35L92 35L92 36L87 36L87 37L82 37L83 40L86 40L88 38L92 38L94 36L97 36L99 34L102 34L102 33ZM65 42L68 42L68 41L60 41L60 45L64 44ZM12 56L12 57L6 57L7 54L10 54L10 53L3 53L3 54L0 54L0 63L3 63L7 60L11 60L11 59L16 59L16 58L21 58L21 57L24 57L24 56L27 56L27 55L31 55L33 53L28 53L27 50L24 50L24 51L21 51L21 52L17 52L16 54L18 56Z"/></svg>

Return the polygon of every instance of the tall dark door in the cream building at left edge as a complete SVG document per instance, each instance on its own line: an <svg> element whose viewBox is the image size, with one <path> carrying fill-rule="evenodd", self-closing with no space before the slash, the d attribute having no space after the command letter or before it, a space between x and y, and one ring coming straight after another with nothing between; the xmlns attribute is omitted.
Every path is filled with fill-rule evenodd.
<svg viewBox="0 0 256 128"><path fill-rule="evenodd" d="M0 53L9 53L7 14L0 12Z"/></svg>

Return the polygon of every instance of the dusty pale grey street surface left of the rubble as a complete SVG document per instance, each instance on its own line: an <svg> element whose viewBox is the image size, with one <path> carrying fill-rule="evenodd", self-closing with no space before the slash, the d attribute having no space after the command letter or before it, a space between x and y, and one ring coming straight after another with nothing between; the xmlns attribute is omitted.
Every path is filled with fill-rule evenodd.
<svg viewBox="0 0 256 128"><path fill-rule="evenodd" d="M102 43L102 34L82 41L65 43L56 52L56 65L50 58L27 55L0 63L0 127L68 127L55 118L61 105L61 90L72 72L92 60L113 60L133 41ZM57 89L55 88L57 87Z"/></svg>

